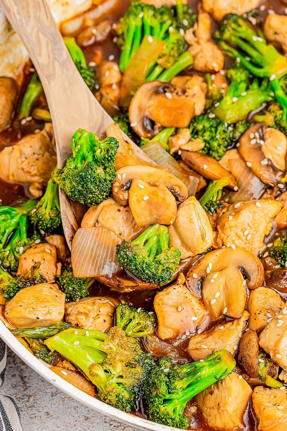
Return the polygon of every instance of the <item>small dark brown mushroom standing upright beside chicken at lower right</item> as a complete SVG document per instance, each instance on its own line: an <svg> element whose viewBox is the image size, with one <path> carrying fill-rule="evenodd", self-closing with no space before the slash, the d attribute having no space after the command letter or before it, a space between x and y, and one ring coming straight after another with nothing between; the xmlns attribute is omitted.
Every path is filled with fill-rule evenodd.
<svg viewBox="0 0 287 431"><path fill-rule="evenodd" d="M256 331L244 332L238 345L238 362L250 377L258 377L259 341Z"/></svg>

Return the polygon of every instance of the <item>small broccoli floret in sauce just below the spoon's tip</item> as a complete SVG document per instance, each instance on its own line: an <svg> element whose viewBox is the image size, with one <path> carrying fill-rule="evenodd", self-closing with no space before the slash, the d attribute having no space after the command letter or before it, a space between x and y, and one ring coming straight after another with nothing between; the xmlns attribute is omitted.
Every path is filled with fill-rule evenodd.
<svg viewBox="0 0 287 431"><path fill-rule="evenodd" d="M133 304L121 300L116 309L115 326L123 329L127 337L143 337L152 334L155 329L154 312L142 308L136 309Z"/></svg>

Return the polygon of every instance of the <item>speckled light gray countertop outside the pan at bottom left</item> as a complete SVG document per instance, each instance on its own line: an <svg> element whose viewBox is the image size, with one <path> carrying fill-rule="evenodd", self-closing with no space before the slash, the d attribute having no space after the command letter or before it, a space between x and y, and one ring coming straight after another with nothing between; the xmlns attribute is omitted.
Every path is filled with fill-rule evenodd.
<svg viewBox="0 0 287 431"><path fill-rule="evenodd" d="M24 431L137 431L78 403L9 349L1 394L18 404Z"/></svg>

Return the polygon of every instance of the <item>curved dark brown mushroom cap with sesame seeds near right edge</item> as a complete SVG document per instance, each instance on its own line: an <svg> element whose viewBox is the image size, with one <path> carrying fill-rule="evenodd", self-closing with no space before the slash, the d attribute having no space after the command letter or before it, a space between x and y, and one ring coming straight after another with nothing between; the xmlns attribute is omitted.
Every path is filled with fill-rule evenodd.
<svg viewBox="0 0 287 431"><path fill-rule="evenodd" d="M251 126L239 139L238 151L257 177L265 184L277 186L283 172L277 169L271 160L267 160L261 150L265 132L265 123L256 123ZM259 137L256 138L255 134L258 134Z"/></svg>

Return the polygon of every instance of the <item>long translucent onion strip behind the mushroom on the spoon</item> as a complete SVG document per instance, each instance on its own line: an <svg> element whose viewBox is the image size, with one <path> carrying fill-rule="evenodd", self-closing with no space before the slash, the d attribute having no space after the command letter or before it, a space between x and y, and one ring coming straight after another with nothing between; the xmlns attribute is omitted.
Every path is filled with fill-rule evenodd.
<svg viewBox="0 0 287 431"><path fill-rule="evenodd" d="M147 154L154 162L159 166L169 168L170 172L177 178L181 179L188 188L188 196L194 196L196 193L199 179L197 176L193 175L191 169L188 169L179 163L164 150L163 147L158 142L151 142L145 144L141 149Z"/></svg>

